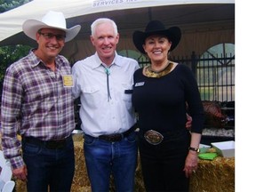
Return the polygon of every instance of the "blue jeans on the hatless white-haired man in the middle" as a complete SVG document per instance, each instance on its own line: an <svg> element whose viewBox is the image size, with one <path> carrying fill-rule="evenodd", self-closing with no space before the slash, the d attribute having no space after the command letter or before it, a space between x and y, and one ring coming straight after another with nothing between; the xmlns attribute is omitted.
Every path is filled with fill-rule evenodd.
<svg viewBox="0 0 256 192"><path fill-rule="evenodd" d="M138 156L135 132L117 142L84 135L84 156L92 192L108 192L110 174L117 192L134 191Z"/></svg>

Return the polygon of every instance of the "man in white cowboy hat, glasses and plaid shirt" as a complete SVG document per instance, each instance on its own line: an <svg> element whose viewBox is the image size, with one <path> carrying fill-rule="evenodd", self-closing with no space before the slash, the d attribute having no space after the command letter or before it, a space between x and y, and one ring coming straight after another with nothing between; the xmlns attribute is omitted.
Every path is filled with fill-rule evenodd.
<svg viewBox="0 0 256 192"><path fill-rule="evenodd" d="M38 47L4 76L4 156L14 178L27 181L28 191L70 191L75 172L73 81L69 62L59 53L81 27L67 28L63 13L52 11L41 21L26 20L22 27Z"/></svg>

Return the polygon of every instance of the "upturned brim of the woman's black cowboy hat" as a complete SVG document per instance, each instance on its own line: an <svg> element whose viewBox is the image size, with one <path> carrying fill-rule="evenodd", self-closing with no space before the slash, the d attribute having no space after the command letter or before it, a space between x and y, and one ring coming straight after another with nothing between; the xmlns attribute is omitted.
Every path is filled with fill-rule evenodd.
<svg viewBox="0 0 256 192"><path fill-rule="evenodd" d="M151 32L134 31L132 34L133 44L140 52L146 54L142 45L145 44L145 39L148 36L153 35L167 36L167 38L172 42L172 46L170 49L170 51L172 51L180 43L181 31L178 27L172 27L164 30L156 30Z"/></svg>

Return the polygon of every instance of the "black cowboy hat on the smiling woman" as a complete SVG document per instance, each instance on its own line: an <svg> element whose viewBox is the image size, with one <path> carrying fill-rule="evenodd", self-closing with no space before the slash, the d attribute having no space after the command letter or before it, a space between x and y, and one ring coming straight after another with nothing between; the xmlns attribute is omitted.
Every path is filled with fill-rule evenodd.
<svg viewBox="0 0 256 192"><path fill-rule="evenodd" d="M159 20L151 20L148 22L148 25L145 29L145 32L142 31L134 31L132 35L133 44L136 48L145 54L142 44L145 44L145 39L148 36L152 35L164 35L167 36L169 41L172 42L172 47L170 51L172 51L179 43L181 37L181 31L178 27L165 28L164 24Z"/></svg>

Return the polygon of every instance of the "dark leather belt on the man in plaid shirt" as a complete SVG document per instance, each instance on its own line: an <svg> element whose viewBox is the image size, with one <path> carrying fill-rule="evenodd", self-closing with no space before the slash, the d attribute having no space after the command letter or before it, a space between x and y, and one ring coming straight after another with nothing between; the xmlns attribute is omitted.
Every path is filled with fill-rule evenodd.
<svg viewBox="0 0 256 192"><path fill-rule="evenodd" d="M72 140L72 136L68 136L65 140L38 140L34 137L22 137L22 141L28 142L34 145L42 146L49 149L61 149L65 148L67 141Z"/></svg>

